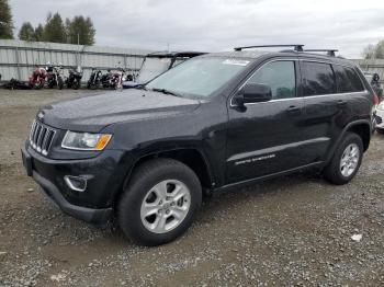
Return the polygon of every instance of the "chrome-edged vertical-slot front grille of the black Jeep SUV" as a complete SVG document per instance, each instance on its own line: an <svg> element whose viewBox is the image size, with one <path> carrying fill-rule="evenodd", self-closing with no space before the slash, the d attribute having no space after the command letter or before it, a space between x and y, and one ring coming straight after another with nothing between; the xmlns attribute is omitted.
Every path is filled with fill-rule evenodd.
<svg viewBox="0 0 384 287"><path fill-rule="evenodd" d="M30 144L37 152L47 156L56 130L35 120L32 124Z"/></svg>

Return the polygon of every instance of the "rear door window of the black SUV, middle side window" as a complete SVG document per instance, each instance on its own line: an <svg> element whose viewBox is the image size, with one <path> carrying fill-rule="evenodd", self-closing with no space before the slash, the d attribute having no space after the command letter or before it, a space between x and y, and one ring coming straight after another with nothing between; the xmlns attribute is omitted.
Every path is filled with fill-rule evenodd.
<svg viewBox="0 0 384 287"><path fill-rule="evenodd" d="M304 96L336 93L336 82L329 64L303 61Z"/></svg>

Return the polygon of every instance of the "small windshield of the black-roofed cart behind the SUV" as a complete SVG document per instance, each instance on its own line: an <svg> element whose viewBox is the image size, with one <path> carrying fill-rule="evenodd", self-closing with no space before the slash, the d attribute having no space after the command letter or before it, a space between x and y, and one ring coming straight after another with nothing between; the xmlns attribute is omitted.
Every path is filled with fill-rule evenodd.
<svg viewBox="0 0 384 287"><path fill-rule="evenodd" d="M137 82L146 83L168 70L171 65L171 58L145 58L139 71Z"/></svg>

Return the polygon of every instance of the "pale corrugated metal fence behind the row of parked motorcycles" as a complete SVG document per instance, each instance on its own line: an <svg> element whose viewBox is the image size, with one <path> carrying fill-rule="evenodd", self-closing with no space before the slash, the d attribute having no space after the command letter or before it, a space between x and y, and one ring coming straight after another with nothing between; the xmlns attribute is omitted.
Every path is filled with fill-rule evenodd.
<svg viewBox="0 0 384 287"><path fill-rule="evenodd" d="M50 62L63 64L65 69L81 66L82 80L87 81L92 68L121 67L137 71L148 53L150 50L0 39L0 74L2 81L11 78L26 81L35 65L44 67Z"/></svg>

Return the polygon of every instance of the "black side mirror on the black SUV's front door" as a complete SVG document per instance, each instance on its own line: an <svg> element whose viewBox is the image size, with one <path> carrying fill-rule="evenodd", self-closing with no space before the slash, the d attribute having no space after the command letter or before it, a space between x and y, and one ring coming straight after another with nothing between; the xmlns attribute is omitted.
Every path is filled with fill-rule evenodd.
<svg viewBox="0 0 384 287"><path fill-rule="evenodd" d="M246 103L261 103L272 100L271 87L261 83L247 83L235 95L234 100L239 106Z"/></svg>

